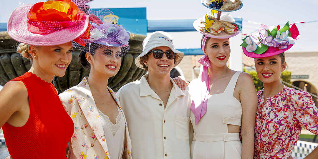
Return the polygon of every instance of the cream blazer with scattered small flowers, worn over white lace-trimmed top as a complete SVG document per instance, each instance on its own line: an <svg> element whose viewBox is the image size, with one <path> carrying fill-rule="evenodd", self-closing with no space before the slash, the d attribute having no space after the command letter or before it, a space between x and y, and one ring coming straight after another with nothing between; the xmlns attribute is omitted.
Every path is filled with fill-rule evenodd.
<svg viewBox="0 0 318 159"><path fill-rule="evenodd" d="M118 96L109 87L107 88L121 109ZM74 134L67 157L72 159L110 159L102 121L92 97L87 77L77 86L60 93L59 98L74 122ZM131 159L131 141L127 121L122 109L121 112L125 119L124 154L127 159Z"/></svg>

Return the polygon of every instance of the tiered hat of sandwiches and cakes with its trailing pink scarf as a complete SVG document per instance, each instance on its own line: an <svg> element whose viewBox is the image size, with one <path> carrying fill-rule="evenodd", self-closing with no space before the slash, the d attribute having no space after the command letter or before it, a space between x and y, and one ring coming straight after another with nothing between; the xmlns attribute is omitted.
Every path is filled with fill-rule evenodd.
<svg viewBox="0 0 318 159"><path fill-rule="evenodd" d="M204 15L203 18L194 21L194 28L203 34L202 51L204 52L205 42L210 38L230 38L238 35L240 32L239 25L235 24L235 20L229 13L221 15L222 11L229 12L242 8L243 3L240 0L202 0L201 3L211 9L211 14ZM217 14L215 17L213 14ZM190 110L195 116L195 125L200 121L201 117L206 113L207 95L209 95L210 78L208 70L211 67L209 57L204 55L198 60L202 64L203 69L200 70L198 82L196 82L197 93L191 95L192 104Z"/></svg>

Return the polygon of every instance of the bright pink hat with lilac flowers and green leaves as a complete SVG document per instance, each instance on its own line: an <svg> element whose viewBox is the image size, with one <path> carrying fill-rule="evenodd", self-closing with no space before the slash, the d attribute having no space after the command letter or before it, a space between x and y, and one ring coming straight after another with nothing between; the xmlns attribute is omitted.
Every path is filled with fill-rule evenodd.
<svg viewBox="0 0 318 159"><path fill-rule="evenodd" d="M283 27L260 24L257 33L244 34L247 35L241 44L244 54L251 58L261 58L285 52L300 37L295 24L289 25L287 22Z"/></svg>

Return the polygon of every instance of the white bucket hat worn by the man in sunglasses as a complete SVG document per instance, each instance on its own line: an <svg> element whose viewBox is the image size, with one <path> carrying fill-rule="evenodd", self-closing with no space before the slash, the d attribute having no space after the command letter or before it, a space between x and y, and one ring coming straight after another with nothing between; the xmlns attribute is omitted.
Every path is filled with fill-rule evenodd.
<svg viewBox="0 0 318 159"><path fill-rule="evenodd" d="M178 59L176 59L174 67L176 67L181 60L183 59L184 53L175 49L173 44L173 38L170 34L164 31L156 31L149 34L142 42L142 53L135 59L135 64L143 69L143 66L140 64L140 58L145 56L152 49L159 46L168 46L174 53L177 54Z"/></svg>

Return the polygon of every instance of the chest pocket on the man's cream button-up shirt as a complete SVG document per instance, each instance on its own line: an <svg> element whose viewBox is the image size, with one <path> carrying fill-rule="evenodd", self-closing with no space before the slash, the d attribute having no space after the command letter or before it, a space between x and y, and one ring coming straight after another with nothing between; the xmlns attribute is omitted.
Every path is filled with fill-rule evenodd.
<svg viewBox="0 0 318 159"><path fill-rule="evenodd" d="M179 140L189 140L190 118L176 115L176 137Z"/></svg>

